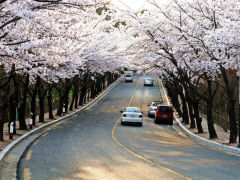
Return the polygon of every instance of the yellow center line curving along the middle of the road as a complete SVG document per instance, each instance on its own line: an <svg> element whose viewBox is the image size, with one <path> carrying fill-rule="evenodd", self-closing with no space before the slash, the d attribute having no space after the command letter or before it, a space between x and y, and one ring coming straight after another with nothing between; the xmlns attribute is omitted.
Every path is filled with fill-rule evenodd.
<svg viewBox="0 0 240 180"><path fill-rule="evenodd" d="M134 97L134 95L135 95L135 93L136 93L137 87L138 87L138 82L137 82L137 84L136 84L136 87L135 87L135 89L134 89L133 95L132 95L132 97L131 97L131 99L130 99L130 101L129 101L128 106L130 106L131 103L132 103L132 100L133 100L133 97ZM118 120L114 123L113 128L112 128L112 139L115 141L116 144L118 144L119 146L121 146L121 147L122 147L124 150L126 150L127 152L133 154L134 156L136 156L136 157L138 157L138 158L140 158L140 159L142 159L142 160L144 160L144 161L146 161L146 162L148 162L148 163L150 163L150 164L152 164L152 165L156 165L156 166L160 167L161 169L163 169L163 170L165 170L165 171L167 171L167 172L170 172L170 173L172 173L172 174L175 174L175 175L177 175L177 176L180 176L180 177L182 177L182 178L184 178L184 179L192 180L192 178L187 177L187 176L185 176L185 175L183 175L183 174L180 174L180 173L178 173L178 172L176 172L176 171L173 171L172 169L169 169L169 168L167 168L167 167L164 167L164 166L162 166L162 165L154 162L153 160L150 160L150 159L144 157L143 155L141 155L141 154L139 154L139 153L131 150L131 149L128 148L127 146L123 145L122 143L120 143L119 140L118 140L118 139L116 138L116 136L115 136L115 130L116 130L117 125L120 123L120 120L121 120L121 117L118 118Z"/></svg>

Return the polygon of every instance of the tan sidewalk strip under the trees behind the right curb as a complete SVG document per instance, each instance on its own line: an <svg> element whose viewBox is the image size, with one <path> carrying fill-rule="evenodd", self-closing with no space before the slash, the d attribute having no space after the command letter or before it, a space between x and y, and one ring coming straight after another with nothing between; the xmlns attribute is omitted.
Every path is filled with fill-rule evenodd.
<svg viewBox="0 0 240 180"><path fill-rule="evenodd" d="M177 117L178 117L178 115L177 115ZM216 130L218 138L217 139L209 139L207 118L205 116L203 116L203 115L201 115L201 117L202 117L202 128L203 128L203 132L204 133L199 134L197 132L197 128L191 129L190 128L190 124L183 124L184 127L187 128L192 133L196 134L197 136L200 136L200 137L202 137L204 139L207 139L207 140L210 140L212 142L216 142L216 143L227 145L227 146L231 146L231 147L236 147L237 146L238 143L229 144L230 132L229 131L226 132L223 128L221 128L217 124L214 124L214 127L215 127L215 130ZM182 118L179 118L179 120L182 121ZM238 142L238 138L237 138L237 142Z"/></svg>

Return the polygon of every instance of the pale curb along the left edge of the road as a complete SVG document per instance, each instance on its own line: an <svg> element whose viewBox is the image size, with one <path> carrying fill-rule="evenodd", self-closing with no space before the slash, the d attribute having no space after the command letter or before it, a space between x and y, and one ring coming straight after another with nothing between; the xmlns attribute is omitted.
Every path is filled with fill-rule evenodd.
<svg viewBox="0 0 240 180"><path fill-rule="evenodd" d="M96 101L100 101L101 99L104 98L105 95L107 95L107 93L117 85L117 83L119 83L119 81L122 79L122 76L120 76L114 83L112 83L107 89L105 89L102 93L100 93L96 98L94 98L92 101L90 101L88 104L86 104L85 106L81 107L80 109L78 109L77 111L75 112L72 112L66 116L63 116L63 117L60 117L59 119L57 120L54 120L52 122L49 122L49 123L46 123L46 124L43 124L41 126L39 126L38 128L22 135L21 137L19 137L18 139L16 139L15 141L13 141L12 143L10 143L7 147L5 147L2 152L0 153L0 162L3 160L3 158L7 155L7 153L9 151L11 151L17 144L19 144L21 141L23 141L25 138L27 138L28 136L32 135L33 133L36 133L37 131L45 128L45 127L48 127L52 124L55 124L57 122L60 122L62 120L64 120L66 117L69 117L77 112L80 112L82 110L84 110L85 108L87 108L88 106L92 105L93 103L95 103ZM44 132L45 133L45 132ZM39 135L41 136L41 135ZM38 137L39 137L38 136Z"/></svg>

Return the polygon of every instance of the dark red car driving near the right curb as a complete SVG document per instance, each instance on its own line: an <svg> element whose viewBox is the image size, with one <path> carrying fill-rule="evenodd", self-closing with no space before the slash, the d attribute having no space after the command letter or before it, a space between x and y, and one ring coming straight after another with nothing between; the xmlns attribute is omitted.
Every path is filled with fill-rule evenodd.
<svg viewBox="0 0 240 180"><path fill-rule="evenodd" d="M173 124L173 108L168 105L159 105L157 107L155 118L154 118L155 124L160 122L167 122L170 125Z"/></svg>

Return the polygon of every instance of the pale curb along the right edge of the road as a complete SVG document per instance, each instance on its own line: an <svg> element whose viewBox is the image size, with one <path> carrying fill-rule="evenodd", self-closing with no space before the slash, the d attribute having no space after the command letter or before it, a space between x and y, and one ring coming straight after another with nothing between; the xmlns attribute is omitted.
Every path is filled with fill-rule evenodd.
<svg viewBox="0 0 240 180"><path fill-rule="evenodd" d="M160 81L160 79L159 79L159 81ZM158 83L159 83L159 81L158 81ZM170 105L170 102L169 102L169 100L168 100L167 93L166 93L166 91L165 91L165 87L163 86L162 81L160 81L160 82L161 82L161 86L163 87L163 92L164 92L164 95L165 95L165 97L166 97L166 99L167 99L167 103L168 103L168 105ZM159 87L160 87L160 83L159 83ZM210 140L207 140L207 139L204 139L204 138L202 138L202 137L200 137L200 136L197 136L196 134L192 133L192 132L189 131L187 128L185 128L185 127L183 126L183 124L179 121L178 117L177 117L175 114L174 114L174 118L175 118L178 126L179 126L189 137L191 137L192 139L194 139L194 140L196 140L196 141L198 141L198 142L201 142L201 143L203 143L203 144L205 144L205 145L208 145L208 146L214 147L214 148L216 148L216 149L222 150L222 151L224 151L224 152L233 153L233 154L235 154L235 155L240 155L240 149L234 148L234 147L229 147L229 146L226 146L226 145L222 145L222 144L219 144L219 143L216 143L216 142L212 142L212 141L210 141Z"/></svg>

